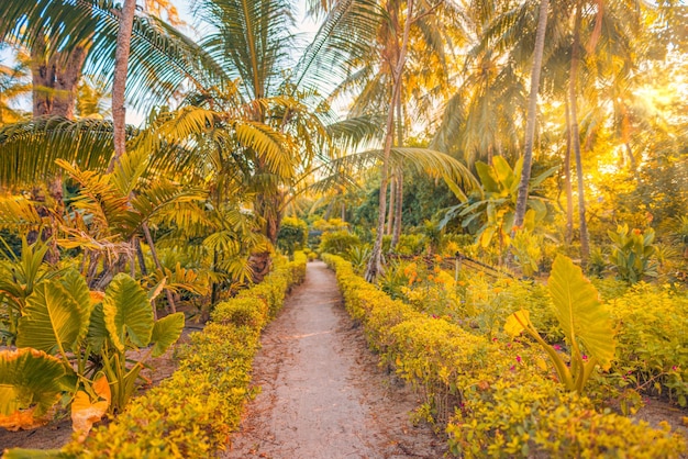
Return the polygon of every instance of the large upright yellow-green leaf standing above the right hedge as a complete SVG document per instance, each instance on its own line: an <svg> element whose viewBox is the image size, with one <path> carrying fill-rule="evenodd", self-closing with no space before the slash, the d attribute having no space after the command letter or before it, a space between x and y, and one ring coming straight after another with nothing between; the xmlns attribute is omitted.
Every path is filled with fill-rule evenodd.
<svg viewBox="0 0 688 459"><path fill-rule="evenodd" d="M559 255L552 266L548 287L555 314L569 343L579 339L587 352L609 369L614 358L614 332L595 286L569 258Z"/></svg>

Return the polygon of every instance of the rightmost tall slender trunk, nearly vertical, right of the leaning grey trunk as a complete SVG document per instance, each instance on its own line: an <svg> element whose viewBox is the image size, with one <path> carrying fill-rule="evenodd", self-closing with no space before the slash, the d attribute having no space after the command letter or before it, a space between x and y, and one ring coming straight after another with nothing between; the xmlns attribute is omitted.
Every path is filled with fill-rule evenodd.
<svg viewBox="0 0 688 459"><path fill-rule="evenodd" d="M574 24L574 43L572 48L572 65L568 81L568 98L570 103L572 130L570 139L576 156L576 172L578 175L578 220L580 227L580 261L581 265L588 262L590 257L590 238L588 235L588 224L586 222L586 201L582 183L582 158L580 154L580 134L578 132L578 113L576 108L576 80L578 79L578 66L580 64L580 21L581 7L576 9L576 22Z"/></svg>

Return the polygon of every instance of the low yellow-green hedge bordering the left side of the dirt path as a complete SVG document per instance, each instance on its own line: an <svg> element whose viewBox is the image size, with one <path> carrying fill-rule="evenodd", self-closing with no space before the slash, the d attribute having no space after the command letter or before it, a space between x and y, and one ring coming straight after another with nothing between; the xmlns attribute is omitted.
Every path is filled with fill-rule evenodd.
<svg viewBox="0 0 688 459"><path fill-rule="evenodd" d="M306 276L302 253L278 262L265 280L217 305L202 332L178 351L175 373L135 399L64 457L208 458L224 449L248 395L260 329L281 307L289 288Z"/></svg>

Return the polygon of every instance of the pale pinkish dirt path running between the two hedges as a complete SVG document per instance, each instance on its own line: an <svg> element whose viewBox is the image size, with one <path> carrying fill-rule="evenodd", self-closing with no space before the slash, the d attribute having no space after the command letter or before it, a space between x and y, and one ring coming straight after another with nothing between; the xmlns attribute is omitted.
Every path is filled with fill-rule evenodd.
<svg viewBox="0 0 688 459"><path fill-rule="evenodd" d="M377 367L342 305L334 273L306 281L263 335L254 361L262 392L225 458L440 458L444 443L414 427L414 395Z"/></svg>

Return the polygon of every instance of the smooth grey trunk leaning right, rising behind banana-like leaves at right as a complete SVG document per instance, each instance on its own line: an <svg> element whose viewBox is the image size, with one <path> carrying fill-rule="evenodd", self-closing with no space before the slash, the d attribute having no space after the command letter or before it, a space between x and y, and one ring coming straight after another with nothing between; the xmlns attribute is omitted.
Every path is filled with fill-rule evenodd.
<svg viewBox="0 0 688 459"><path fill-rule="evenodd" d="M533 56L533 70L531 72L531 94L528 103L528 121L525 122L525 150L523 153L523 170L517 198L517 209L513 225L520 227L525 217L528 206L528 186L531 180L531 167L533 163L533 141L535 138L535 119L537 112L537 91L540 89L540 71L542 70L542 54L545 48L545 32L547 31L547 9L550 0L541 0L540 18L537 20L537 35L535 38L535 53Z"/></svg>

